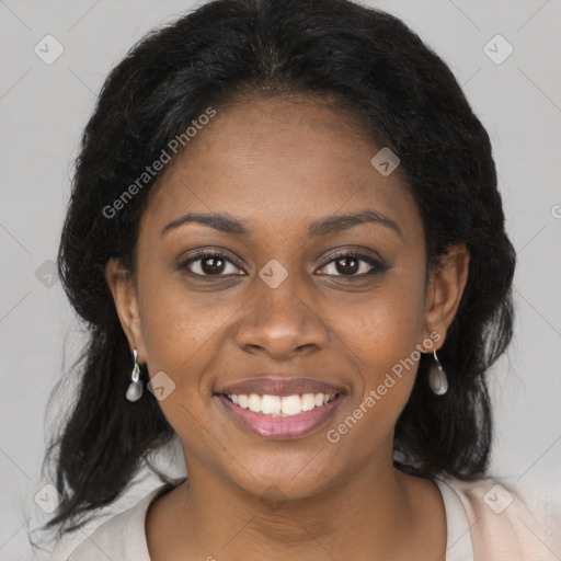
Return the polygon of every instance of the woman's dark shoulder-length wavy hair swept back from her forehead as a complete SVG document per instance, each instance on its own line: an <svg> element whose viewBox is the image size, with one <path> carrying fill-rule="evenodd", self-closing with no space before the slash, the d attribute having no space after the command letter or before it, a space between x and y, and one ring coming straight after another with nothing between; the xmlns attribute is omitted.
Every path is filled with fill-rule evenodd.
<svg viewBox="0 0 561 561"><path fill-rule="evenodd" d="M504 227L491 142L447 65L399 19L347 0L214 0L137 43L111 71L85 126L58 272L88 344L78 396L45 462L64 501L59 536L122 495L174 431L145 391L125 400L131 358L105 279L111 257L136 267L139 219L156 174L107 218L104 208L209 106L300 95L329 101L400 158L419 206L427 266L453 243L470 253L467 285L439 351L448 392L428 388L423 355L394 432L396 467L431 478L485 473L492 415L485 373L513 334L515 253ZM141 379L149 381L146 365Z"/></svg>

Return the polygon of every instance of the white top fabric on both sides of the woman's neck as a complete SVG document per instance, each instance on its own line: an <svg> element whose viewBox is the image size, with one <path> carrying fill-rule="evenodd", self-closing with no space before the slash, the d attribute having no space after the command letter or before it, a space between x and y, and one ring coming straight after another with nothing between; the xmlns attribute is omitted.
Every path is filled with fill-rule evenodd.
<svg viewBox="0 0 561 561"><path fill-rule="evenodd" d="M444 480L435 480L444 500L447 524L446 561L473 561L470 525L462 503L455 490ZM148 506L170 489L158 486L135 506L99 526L67 561L151 561L146 541L145 520Z"/></svg>

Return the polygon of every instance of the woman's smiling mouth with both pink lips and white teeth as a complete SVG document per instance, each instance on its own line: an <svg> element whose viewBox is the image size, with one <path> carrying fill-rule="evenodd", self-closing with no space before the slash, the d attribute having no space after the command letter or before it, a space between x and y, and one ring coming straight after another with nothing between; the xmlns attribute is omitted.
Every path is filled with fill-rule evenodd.
<svg viewBox="0 0 561 561"><path fill-rule="evenodd" d="M306 389L297 392L296 388ZM255 391L248 391L251 389ZM312 391L319 389L324 391ZM297 438L328 423L344 394L341 388L313 380L260 379L230 386L214 397L229 417L250 433L264 438Z"/></svg>

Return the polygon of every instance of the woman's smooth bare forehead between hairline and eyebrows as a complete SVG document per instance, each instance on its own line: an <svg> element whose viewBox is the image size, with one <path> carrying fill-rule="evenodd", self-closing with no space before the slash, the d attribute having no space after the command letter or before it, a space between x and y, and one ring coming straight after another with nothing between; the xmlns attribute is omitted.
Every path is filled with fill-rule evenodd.
<svg viewBox="0 0 561 561"><path fill-rule="evenodd" d="M416 221L417 230L399 168L383 176L370 162L379 150L346 112L308 99L217 108L164 170L141 230L156 234L187 213L227 213L260 234L278 234L365 208L392 215L404 230Z"/></svg>

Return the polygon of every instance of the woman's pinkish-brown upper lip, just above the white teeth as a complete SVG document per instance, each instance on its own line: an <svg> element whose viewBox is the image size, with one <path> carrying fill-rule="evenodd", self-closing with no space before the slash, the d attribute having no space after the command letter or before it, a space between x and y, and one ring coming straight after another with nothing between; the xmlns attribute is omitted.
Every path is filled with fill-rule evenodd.
<svg viewBox="0 0 561 561"><path fill-rule="evenodd" d="M259 378L241 380L217 389L216 393L241 394L256 393L259 396L295 396L304 393L344 393L342 386L328 383L311 378L298 378L275 375L263 375Z"/></svg>

